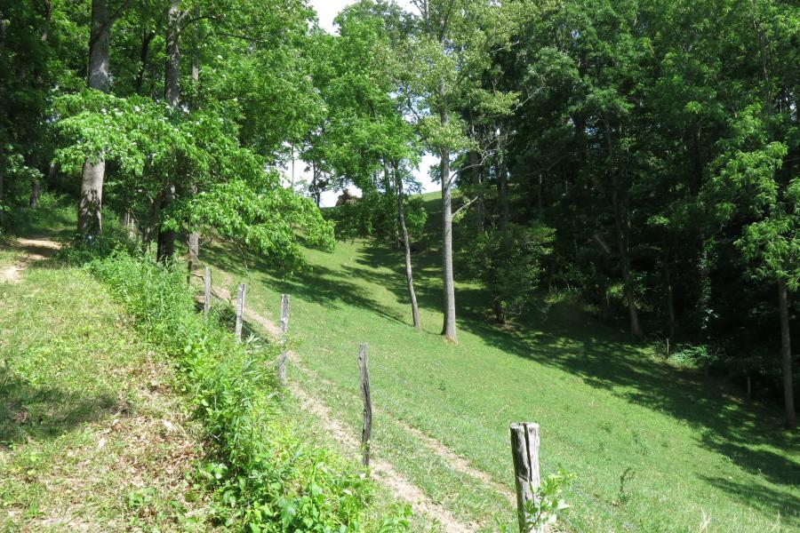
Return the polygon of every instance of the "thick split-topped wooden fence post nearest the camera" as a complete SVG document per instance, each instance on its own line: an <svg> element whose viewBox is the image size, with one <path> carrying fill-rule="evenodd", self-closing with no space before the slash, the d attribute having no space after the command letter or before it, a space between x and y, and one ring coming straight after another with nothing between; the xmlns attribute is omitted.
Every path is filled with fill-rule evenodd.
<svg viewBox="0 0 800 533"><path fill-rule="evenodd" d="M535 517L527 513L525 503L533 501L533 491L539 489L539 425L518 423L511 425L511 454L514 457L514 481L516 484L516 512L519 516L520 533L528 533L528 522ZM532 529L542 533L544 529Z"/></svg>

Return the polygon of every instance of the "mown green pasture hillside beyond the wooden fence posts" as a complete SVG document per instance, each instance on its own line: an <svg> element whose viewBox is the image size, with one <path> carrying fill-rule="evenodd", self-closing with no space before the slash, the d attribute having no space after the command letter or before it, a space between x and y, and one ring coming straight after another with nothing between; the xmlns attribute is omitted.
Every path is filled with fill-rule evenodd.
<svg viewBox="0 0 800 533"><path fill-rule="evenodd" d="M777 429L776 410L669 367L571 306L498 330L484 321L484 294L466 282L457 293L460 345L445 344L434 251L414 259L421 334L408 325L399 254L356 242L307 255L313 270L289 279L221 246L204 258L251 282L249 305L273 316L279 293L292 295L298 352L331 383L294 377L354 430L357 345L369 342L373 402L508 487L508 424L539 422L544 471L564 465L578 475L567 495L573 530L800 528L800 441ZM428 453L391 417L379 415L373 431L377 453L455 513L484 529L497 518L510 523L503 497Z"/></svg>

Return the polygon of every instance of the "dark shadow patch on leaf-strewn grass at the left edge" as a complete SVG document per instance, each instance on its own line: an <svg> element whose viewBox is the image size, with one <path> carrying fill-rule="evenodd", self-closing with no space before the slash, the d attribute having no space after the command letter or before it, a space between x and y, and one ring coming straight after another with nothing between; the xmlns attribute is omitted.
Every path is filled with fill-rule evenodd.
<svg viewBox="0 0 800 533"><path fill-rule="evenodd" d="M107 395L87 397L54 386L36 386L0 370L0 446L56 439L77 426L127 407Z"/></svg>

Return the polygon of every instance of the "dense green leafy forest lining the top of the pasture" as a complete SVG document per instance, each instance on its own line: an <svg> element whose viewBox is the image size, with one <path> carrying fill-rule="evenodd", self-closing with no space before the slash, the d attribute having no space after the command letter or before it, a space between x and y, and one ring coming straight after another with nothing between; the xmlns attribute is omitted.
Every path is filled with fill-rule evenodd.
<svg viewBox="0 0 800 533"><path fill-rule="evenodd" d="M47 191L84 243L114 217L160 261L218 235L287 271L371 235L405 252L419 327L428 152L444 338L454 276L500 323L570 292L796 427L800 6L362 0L337 26L303 0L4 0L3 224Z"/></svg>

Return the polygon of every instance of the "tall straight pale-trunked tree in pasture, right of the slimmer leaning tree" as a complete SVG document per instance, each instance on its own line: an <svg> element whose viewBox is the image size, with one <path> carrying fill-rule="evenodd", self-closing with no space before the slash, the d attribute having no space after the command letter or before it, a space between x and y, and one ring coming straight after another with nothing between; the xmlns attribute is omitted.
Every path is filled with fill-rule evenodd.
<svg viewBox="0 0 800 533"><path fill-rule="evenodd" d="M459 169L452 157L486 147L469 138L468 122L458 111L465 100L484 115L508 115L516 106L514 91L484 91L481 81L494 53L508 47L532 15L528 2L482 0L412 0L415 24L404 44L407 70L400 73L400 92L407 112L416 117L420 135L439 155L442 187L442 335L457 342L452 249L452 187ZM486 119L484 119L486 120Z"/></svg>

